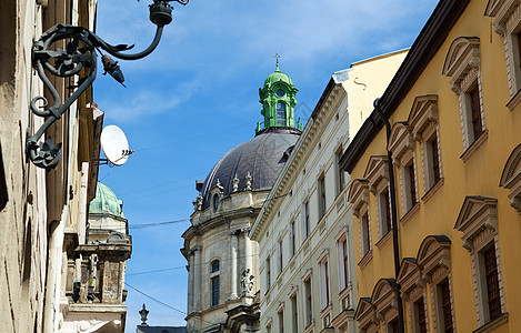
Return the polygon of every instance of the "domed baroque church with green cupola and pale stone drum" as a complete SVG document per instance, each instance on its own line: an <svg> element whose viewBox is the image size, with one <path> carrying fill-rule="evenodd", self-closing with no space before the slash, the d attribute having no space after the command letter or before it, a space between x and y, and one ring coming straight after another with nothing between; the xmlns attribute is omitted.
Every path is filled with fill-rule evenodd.
<svg viewBox="0 0 521 333"><path fill-rule="evenodd" d="M249 232L302 127L298 89L277 69L259 89L263 122L196 181L191 226L182 234L188 262L188 332L254 332L259 327L258 244Z"/></svg>

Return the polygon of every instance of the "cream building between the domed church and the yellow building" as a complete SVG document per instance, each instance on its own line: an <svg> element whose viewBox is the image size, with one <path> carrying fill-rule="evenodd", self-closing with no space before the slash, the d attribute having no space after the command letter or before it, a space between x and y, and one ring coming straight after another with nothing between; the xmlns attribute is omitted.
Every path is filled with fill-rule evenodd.
<svg viewBox="0 0 521 333"><path fill-rule="evenodd" d="M279 174L250 232L260 251L261 332L354 332L350 179L338 162L405 54L335 72Z"/></svg>

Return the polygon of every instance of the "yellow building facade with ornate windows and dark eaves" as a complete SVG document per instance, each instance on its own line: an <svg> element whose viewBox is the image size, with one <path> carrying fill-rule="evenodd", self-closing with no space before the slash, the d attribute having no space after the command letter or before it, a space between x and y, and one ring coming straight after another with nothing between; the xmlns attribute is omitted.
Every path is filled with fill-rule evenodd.
<svg viewBox="0 0 521 333"><path fill-rule="evenodd" d="M521 330L520 21L440 1L343 154L361 332Z"/></svg>

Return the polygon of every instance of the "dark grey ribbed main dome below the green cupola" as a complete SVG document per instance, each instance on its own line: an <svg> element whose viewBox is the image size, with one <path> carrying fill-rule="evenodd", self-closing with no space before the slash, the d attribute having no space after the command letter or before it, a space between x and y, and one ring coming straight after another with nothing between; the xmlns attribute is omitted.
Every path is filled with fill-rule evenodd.
<svg viewBox="0 0 521 333"><path fill-rule="evenodd" d="M218 180L223 186L224 196L233 192L236 174L240 181L238 192L244 191L248 172L251 175L252 191L270 190L299 135L299 130L271 128L231 149L204 180L201 189L202 209L209 206L210 190L216 186Z"/></svg>

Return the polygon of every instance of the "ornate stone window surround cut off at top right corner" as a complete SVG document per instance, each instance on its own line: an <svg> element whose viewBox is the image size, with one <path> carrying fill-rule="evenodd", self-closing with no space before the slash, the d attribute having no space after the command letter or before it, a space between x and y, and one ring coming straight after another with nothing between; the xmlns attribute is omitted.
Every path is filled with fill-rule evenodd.
<svg viewBox="0 0 521 333"><path fill-rule="evenodd" d="M521 101L521 50L518 41L521 31L521 6L515 0L490 0L485 16L494 18L494 30L503 39L511 98L507 107L512 110Z"/></svg>

